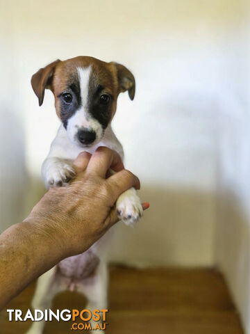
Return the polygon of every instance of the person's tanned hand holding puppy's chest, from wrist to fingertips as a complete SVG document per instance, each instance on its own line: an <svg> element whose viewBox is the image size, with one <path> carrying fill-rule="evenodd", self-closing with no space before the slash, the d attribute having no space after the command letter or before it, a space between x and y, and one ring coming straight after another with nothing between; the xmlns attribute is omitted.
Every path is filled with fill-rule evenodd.
<svg viewBox="0 0 250 334"><path fill-rule="evenodd" d="M110 176L110 168L117 173ZM92 156L82 152L74 170L76 178L68 186L49 189L26 218L58 243L63 257L92 246L118 221L114 205L119 195L132 186L140 189L138 177L124 170L119 154L108 148L100 147Z"/></svg>

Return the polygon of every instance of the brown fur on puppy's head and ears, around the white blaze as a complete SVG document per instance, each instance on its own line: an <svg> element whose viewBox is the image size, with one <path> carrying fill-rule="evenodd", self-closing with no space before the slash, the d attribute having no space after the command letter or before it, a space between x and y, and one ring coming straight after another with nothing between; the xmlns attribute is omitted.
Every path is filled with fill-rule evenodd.
<svg viewBox="0 0 250 334"><path fill-rule="evenodd" d="M109 117L110 121L115 115L117 106L117 97L119 93L128 90L128 95L133 100L135 95L135 78L133 74L123 65L118 63L106 63L104 61L99 61L97 58L92 58L88 56L78 56L76 58L68 59L67 61L55 61L46 67L40 69L35 73L31 79L31 84L35 94L38 96L39 104L41 105L44 98L44 90L46 88L53 92L55 97L56 113L58 117L61 118L63 122L65 121L65 114L68 110L62 111L62 94L67 91L75 90L75 95L78 95L75 100L74 108L77 109L81 106L81 92L80 83L78 77L78 68L86 68L91 66L91 74L89 81L89 108L92 110L92 116L99 120L101 118L102 110L98 107L94 107L94 99L97 99L97 90L101 91L101 94L108 94L111 97L110 107L109 107ZM73 107L72 107L73 110ZM98 115L98 113L100 113ZM72 111L67 114L67 117L73 115ZM104 123L107 120L100 120ZM105 128L107 125L103 125ZM67 127L67 125L65 125Z"/></svg>

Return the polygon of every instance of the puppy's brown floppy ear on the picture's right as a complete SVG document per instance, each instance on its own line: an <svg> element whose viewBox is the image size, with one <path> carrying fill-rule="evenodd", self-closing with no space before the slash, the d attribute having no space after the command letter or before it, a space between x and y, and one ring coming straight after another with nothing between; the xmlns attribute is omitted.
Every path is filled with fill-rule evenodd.
<svg viewBox="0 0 250 334"><path fill-rule="evenodd" d="M114 61L111 64L115 65L117 69L119 93L128 90L128 95L133 100L135 97L135 77L124 65L115 63Z"/></svg>

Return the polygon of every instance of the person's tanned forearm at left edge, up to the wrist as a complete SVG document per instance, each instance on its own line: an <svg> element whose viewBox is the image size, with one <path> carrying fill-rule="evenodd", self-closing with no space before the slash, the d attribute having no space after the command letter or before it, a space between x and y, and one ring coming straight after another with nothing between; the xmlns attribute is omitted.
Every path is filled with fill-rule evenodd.
<svg viewBox="0 0 250 334"><path fill-rule="evenodd" d="M46 224L28 219L0 235L0 309L32 280L63 259Z"/></svg>

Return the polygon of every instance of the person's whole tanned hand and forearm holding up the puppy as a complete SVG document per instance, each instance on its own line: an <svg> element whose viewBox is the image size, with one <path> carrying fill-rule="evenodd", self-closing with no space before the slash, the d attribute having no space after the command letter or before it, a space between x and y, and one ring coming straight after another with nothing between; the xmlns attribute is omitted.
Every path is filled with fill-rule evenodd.
<svg viewBox="0 0 250 334"><path fill-rule="evenodd" d="M117 173L106 178L109 168ZM140 189L138 177L108 148L79 154L74 169L71 184L49 189L22 223L0 235L0 309L65 257L85 252L118 221L119 195Z"/></svg>

